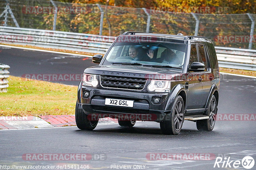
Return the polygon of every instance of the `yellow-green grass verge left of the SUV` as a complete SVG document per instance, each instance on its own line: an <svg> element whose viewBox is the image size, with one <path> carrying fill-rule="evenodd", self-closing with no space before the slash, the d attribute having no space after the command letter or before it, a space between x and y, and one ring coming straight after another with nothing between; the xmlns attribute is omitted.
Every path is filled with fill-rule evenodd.
<svg viewBox="0 0 256 170"><path fill-rule="evenodd" d="M75 114L77 87L10 76L7 93L0 93L0 116Z"/></svg>

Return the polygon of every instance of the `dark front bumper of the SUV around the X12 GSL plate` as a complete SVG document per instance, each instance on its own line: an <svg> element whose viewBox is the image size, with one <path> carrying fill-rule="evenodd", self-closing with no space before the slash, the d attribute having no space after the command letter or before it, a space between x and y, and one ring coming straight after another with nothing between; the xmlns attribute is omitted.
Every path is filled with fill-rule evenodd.
<svg viewBox="0 0 256 170"><path fill-rule="evenodd" d="M88 98L83 97L83 92L89 91ZM113 115L126 114L146 116L145 121L161 121L164 116L170 112L165 110L168 105L170 93L145 93L134 91L120 91L113 89L96 89L90 87L81 88L81 104L85 114L101 114L101 117L112 117ZM153 103L153 98L159 97L161 99L159 104ZM109 106L105 105L105 98L133 100L133 107ZM104 116L102 116L104 115ZM111 116L112 115L112 116Z"/></svg>

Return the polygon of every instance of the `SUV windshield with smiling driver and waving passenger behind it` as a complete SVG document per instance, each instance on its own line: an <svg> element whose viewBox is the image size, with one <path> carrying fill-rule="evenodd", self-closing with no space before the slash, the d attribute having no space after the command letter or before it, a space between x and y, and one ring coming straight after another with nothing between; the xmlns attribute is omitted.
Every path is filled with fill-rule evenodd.
<svg viewBox="0 0 256 170"><path fill-rule="evenodd" d="M182 68L186 45L167 42L116 42L103 65L138 63Z"/></svg>

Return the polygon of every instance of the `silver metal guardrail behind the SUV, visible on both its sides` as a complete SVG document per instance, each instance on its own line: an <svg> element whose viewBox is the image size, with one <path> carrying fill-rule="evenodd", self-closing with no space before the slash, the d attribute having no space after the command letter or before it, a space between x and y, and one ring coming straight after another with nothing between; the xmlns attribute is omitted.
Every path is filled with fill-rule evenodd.
<svg viewBox="0 0 256 170"><path fill-rule="evenodd" d="M105 54L116 37L0 26L0 43ZM256 71L256 50L215 47L219 66Z"/></svg>

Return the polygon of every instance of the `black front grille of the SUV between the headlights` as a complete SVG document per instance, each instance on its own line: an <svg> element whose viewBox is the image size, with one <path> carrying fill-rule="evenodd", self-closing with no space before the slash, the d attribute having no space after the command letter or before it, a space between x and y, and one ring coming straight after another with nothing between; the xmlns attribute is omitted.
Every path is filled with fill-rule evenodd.
<svg viewBox="0 0 256 170"><path fill-rule="evenodd" d="M146 81L145 78L100 75L101 86L107 88L142 90ZM135 85L139 85L139 87L135 87Z"/></svg>

